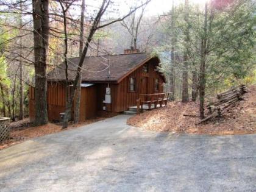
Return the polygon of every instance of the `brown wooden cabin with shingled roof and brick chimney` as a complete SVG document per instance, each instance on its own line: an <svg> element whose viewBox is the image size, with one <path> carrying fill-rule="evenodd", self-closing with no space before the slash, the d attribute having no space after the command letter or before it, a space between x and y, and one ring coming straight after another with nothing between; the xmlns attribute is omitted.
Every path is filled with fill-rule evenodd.
<svg viewBox="0 0 256 192"><path fill-rule="evenodd" d="M68 78L76 75L79 58L68 60ZM163 93L165 77L157 71L160 60L137 49L124 54L86 57L82 66L80 121L98 111L124 112L137 105L140 94ZM48 74L48 118L59 120L65 112L65 64ZM69 87L72 88L72 85ZM29 89L30 119L34 118L34 88ZM74 99L76 102L76 99ZM73 117L73 114L71 114Z"/></svg>

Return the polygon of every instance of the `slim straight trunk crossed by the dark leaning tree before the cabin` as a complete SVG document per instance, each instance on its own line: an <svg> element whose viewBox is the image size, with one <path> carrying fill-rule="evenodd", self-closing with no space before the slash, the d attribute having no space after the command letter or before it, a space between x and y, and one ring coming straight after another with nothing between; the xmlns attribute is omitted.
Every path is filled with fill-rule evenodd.
<svg viewBox="0 0 256 192"><path fill-rule="evenodd" d="M84 15L85 15L85 0L82 0L82 7L81 7L81 18L80 18L80 40L79 40L79 57L82 55L83 51L83 43L84 43ZM99 54L99 40L97 44L97 55ZM81 73L79 73L79 80L76 89L76 105L74 107L74 123L79 122L80 116L80 101L81 101L81 83L82 77Z"/></svg>

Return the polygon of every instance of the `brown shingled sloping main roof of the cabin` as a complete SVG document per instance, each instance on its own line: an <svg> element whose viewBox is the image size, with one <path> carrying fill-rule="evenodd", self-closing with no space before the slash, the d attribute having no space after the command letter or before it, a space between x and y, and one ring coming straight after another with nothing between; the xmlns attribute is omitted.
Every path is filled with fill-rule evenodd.
<svg viewBox="0 0 256 192"><path fill-rule="evenodd" d="M157 57L148 53L119 54L85 57L82 66L82 80L88 82L119 82L134 69ZM109 61L108 61L109 59ZM79 57L68 59L68 79L74 80ZM108 63L110 65L108 69ZM109 75L108 75L109 74ZM65 63L61 63L50 73L48 80L65 80Z"/></svg>

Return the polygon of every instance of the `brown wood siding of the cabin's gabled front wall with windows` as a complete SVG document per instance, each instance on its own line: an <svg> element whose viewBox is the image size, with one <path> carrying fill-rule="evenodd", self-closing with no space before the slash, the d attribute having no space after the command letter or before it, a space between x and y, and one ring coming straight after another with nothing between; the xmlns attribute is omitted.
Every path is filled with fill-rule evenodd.
<svg viewBox="0 0 256 192"><path fill-rule="evenodd" d="M163 93L163 77L158 71L155 71L157 63L150 60L148 65L148 73L143 73L143 66L141 66L121 80L119 84L113 84L115 87L112 85L112 112L123 112L128 107L137 105L137 99L141 93ZM136 79L136 87L133 92L129 90L130 77ZM143 77L148 79L146 90L143 90L142 86ZM155 91L155 79L158 79L159 82L158 91Z"/></svg>

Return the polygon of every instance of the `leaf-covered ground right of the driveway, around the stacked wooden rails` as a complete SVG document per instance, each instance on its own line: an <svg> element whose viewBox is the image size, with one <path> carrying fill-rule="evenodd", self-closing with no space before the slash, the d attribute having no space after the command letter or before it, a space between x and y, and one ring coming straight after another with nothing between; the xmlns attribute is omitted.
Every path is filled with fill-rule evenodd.
<svg viewBox="0 0 256 192"><path fill-rule="evenodd" d="M197 116L183 116L199 114L199 104L196 102L169 102L166 107L133 116L127 124L159 132L210 135L256 133L256 85L249 87L249 92L243 98L244 101L236 104L221 119L204 124L195 125L199 121Z"/></svg>

